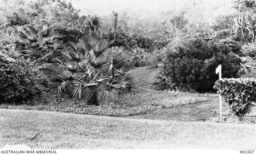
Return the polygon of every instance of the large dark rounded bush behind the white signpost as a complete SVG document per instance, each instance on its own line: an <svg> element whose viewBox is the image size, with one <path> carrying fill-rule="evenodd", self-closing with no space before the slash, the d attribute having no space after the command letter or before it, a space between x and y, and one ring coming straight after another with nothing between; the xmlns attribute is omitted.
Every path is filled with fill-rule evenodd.
<svg viewBox="0 0 256 155"><path fill-rule="evenodd" d="M171 82L169 89L213 91L218 79L215 69L222 65L222 76L235 78L240 70L240 59L231 48L221 42L203 38L187 38L166 55L162 76ZM162 78L165 79L165 78Z"/></svg>

